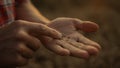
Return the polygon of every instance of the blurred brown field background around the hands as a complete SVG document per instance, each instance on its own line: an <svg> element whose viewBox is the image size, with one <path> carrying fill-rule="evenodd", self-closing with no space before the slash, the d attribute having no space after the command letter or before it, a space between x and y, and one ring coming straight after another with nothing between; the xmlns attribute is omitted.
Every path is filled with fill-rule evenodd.
<svg viewBox="0 0 120 68"><path fill-rule="evenodd" d="M41 47L30 63L22 68L120 68L120 0L34 0L50 20L75 17L100 25L96 33L85 36L102 46L97 57L83 60L56 55Z"/></svg>

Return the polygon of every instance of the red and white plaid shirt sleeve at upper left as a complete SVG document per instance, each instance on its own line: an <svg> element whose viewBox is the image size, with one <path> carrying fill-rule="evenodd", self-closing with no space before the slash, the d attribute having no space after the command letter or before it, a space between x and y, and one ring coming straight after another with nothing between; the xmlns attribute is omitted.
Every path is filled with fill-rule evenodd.
<svg viewBox="0 0 120 68"><path fill-rule="evenodd" d="M15 1L0 0L0 26L11 23L15 19Z"/></svg>

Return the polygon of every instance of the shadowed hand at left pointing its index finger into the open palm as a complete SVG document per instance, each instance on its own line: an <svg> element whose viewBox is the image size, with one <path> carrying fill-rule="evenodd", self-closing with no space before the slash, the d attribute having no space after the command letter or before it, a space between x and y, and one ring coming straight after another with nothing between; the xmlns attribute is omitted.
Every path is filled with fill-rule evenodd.
<svg viewBox="0 0 120 68"><path fill-rule="evenodd" d="M56 30L39 23L17 20L0 28L0 68L22 66L41 42L37 36L60 38ZM6 67L7 66L7 67Z"/></svg>

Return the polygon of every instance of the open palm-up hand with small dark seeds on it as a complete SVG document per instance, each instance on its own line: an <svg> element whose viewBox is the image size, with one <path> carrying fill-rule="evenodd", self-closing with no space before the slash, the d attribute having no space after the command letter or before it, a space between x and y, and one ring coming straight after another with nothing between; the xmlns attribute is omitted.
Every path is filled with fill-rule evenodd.
<svg viewBox="0 0 120 68"><path fill-rule="evenodd" d="M43 37L42 43L46 48L59 55L71 55L87 59L90 55L96 55L100 45L84 37L78 30L95 32L98 25L90 21L81 21L74 18L57 18L49 24L50 27L63 34L61 40Z"/></svg>

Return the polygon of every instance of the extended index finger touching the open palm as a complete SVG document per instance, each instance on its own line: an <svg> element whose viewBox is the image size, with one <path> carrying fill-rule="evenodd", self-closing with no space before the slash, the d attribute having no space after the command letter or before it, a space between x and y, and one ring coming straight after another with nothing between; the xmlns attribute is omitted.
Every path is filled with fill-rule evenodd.
<svg viewBox="0 0 120 68"><path fill-rule="evenodd" d="M50 36L52 38L61 38L62 34L58 31L49 28L46 25L40 24L40 23L33 23L23 20L18 20L16 23L19 23L19 26L22 26L22 28L32 34L35 34L37 36L44 35L44 36Z"/></svg>

